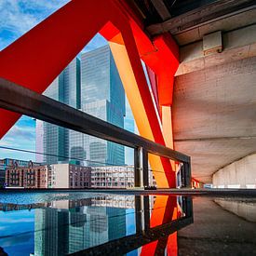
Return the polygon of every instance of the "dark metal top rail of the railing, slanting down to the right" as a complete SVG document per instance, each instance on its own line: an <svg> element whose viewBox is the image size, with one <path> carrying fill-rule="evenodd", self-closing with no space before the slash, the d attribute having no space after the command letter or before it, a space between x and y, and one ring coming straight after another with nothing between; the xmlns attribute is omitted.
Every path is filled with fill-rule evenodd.
<svg viewBox="0 0 256 256"><path fill-rule="evenodd" d="M180 162L190 157L0 78L0 108Z"/></svg>

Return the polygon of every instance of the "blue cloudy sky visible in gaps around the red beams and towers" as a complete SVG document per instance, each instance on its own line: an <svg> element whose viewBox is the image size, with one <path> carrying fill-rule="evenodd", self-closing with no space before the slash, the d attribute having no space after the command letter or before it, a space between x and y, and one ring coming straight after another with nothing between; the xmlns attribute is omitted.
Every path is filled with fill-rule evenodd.
<svg viewBox="0 0 256 256"><path fill-rule="evenodd" d="M37 23L68 3L69 0L0 0L0 50L32 29ZM89 51L106 45L106 40L96 34L83 51ZM128 106L128 104L127 104ZM134 131L129 107L125 128ZM35 121L28 116L22 116L16 125L9 130L0 141L0 146L15 147L35 151ZM127 151L128 158L132 158L132 151ZM20 153L0 149L0 158L11 157L24 160L35 160L34 154ZM128 163L132 163L128 160Z"/></svg>

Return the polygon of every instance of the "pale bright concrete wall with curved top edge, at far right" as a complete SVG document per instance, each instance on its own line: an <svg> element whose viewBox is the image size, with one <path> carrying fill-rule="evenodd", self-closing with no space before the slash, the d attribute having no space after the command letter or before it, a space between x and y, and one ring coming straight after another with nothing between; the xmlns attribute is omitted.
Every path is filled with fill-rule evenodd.
<svg viewBox="0 0 256 256"><path fill-rule="evenodd" d="M218 188L256 188L256 154L248 155L213 174Z"/></svg>

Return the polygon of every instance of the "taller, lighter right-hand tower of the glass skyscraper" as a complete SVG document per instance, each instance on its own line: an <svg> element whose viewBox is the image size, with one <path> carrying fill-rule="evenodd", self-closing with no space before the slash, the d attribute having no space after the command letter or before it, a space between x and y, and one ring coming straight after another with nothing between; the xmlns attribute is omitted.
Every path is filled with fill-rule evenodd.
<svg viewBox="0 0 256 256"><path fill-rule="evenodd" d="M81 109L124 128L125 92L109 46L82 54ZM70 155L91 160L89 166L125 164L124 146L70 132ZM78 142L79 141L79 142Z"/></svg>

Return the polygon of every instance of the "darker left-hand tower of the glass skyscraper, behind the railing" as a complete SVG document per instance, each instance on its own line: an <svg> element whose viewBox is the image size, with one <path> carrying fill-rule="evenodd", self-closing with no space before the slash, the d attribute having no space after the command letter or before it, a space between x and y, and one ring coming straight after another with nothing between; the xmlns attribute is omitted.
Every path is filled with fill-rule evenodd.
<svg viewBox="0 0 256 256"><path fill-rule="evenodd" d="M80 80L80 61L75 58L51 83L44 95L79 109L81 106ZM36 155L36 160L47 164L67 160L61 156L69 156L69 130L37 120L36 151L46 154L43 157Z"/></svg>

